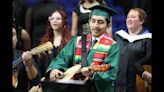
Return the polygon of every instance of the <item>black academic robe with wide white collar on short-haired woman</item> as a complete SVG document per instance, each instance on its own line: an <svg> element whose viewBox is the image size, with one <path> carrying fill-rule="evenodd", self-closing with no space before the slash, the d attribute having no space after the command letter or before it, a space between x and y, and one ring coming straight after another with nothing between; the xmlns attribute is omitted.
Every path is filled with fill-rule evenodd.
<svg viewBox="0 0 164 92"><path fill-rule="evenodd" d="M151 56L151 33L142 30L137 37L131 37L124 30L117 31L114 39L120 45L120 64L115 92L136 92L135 62Z"/></svg>

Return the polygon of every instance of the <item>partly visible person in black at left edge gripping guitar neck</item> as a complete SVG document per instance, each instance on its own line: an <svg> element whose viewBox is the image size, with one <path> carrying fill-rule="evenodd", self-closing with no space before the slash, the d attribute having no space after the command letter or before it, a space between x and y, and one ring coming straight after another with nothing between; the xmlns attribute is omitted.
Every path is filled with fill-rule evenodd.
<svg viewBox="0 0 164 92"><path fill-rule="evenodd" d="M23 52L16 49L17 40L16 30L13 28L13 92L28 92L30 86L40 83L41 77L30 51ZM19 60L21 62L16 64Z"/></svg>

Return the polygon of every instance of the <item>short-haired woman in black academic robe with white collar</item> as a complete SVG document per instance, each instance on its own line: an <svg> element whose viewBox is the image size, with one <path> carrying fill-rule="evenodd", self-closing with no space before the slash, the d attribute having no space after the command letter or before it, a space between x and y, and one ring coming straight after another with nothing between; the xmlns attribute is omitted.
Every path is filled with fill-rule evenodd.
<svg viewBox="0 0 164 92"><path fill-rule="evenodd" d="M119 30L114 39L120 45L120 65L115 82L115 92L136 92L136 62L151 56L151 33L143 27L147 14L143 9L130 9L126 25L128 30Z"/></svg>

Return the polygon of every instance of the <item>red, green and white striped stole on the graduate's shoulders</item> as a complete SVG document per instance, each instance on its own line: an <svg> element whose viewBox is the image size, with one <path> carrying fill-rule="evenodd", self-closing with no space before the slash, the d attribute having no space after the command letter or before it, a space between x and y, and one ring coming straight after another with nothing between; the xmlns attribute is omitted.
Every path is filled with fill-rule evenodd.
<svg viewBox="0 0 164 92"><path fill-rule="evenodd" d="M91 35L87 35L87 42L86 46L87 49L90 47L91 41ZM93 49L96 49L96 52L94 54L92 65L101 65L103 63L103 60L107 57L109 48L111 44L113 43L112 38L108 34L104 34L104 36L100 39L99 42L97 42ZM77 38L77 47L76 47L76 55L75 55L75 61L81 61L81 52L82 49L82 39L81 37Z"/></svg>

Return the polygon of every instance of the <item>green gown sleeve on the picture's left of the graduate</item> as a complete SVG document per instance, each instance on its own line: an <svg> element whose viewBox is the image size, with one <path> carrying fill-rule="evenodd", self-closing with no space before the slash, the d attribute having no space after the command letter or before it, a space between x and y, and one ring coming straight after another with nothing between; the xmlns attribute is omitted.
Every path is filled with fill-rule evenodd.
<svg viewBox="0 0 164 92"><path fill-rule="evenodd" d="M73 53L75 52L76 39L73 38L54 58L47 68L46 72L52 69L63 69L66 71L69 65L73 62Z"/></svg>

